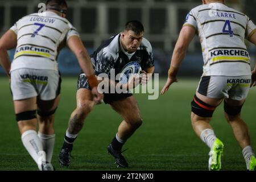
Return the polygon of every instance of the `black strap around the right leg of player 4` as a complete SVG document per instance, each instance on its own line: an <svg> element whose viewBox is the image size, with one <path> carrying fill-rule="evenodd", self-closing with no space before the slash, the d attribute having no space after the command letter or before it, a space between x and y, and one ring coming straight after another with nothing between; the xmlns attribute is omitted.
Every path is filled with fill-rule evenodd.
<svg viewBox="0 0 256 182"><path fill-rule="evenodd" d="M240 119L240 113L242 106L230 106L226 101L224 101L224 111L226 121L232 122Z"/></svg>

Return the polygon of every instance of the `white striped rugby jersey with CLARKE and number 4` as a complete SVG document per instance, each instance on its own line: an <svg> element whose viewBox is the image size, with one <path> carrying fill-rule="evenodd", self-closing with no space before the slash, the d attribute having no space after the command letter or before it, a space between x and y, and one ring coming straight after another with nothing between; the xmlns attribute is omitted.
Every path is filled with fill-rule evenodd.
<svg viewBox="0 0 256 182"><path fill-rule="evenodd" d="M251 75L245 38L256 31L248 16L222 3L200 5L187 15L183 26L196 28L203 59L203 76Z"/></svg>

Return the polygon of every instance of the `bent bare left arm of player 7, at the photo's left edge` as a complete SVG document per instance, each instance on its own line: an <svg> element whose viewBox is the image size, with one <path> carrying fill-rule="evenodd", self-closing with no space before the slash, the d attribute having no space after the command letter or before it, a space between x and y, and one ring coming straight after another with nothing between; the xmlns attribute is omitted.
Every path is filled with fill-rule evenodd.
<svg viewBox="0 0 256 182"><path fill-rule="evenodd" d="M17 44L17 35L14 31L9 30L3 34L0 39L0 64L6 72L6 75L10 78L11 62L7 50L13 49Z"/></svg>

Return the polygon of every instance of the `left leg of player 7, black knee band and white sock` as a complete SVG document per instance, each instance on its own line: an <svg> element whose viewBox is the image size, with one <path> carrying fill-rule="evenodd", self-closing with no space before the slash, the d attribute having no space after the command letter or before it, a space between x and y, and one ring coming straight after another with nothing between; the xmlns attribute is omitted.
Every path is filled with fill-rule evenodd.
<svg viewBox="0 0 256 182"><path fill-rule="evenodd" d="M14 101L14 109L24 147L40 170L47 169L46 153L36 133L36 97Z"/></svg>

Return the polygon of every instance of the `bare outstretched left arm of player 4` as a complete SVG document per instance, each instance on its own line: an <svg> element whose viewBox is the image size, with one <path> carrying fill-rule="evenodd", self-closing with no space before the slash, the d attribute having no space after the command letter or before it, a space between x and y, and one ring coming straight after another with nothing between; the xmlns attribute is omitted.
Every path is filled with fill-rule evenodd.
<svg viewBox="0 0 256 182"><path fill-rule="evenodd" d="M185 57L185 53L187 52L188 46L191 43L192 39L196 35L196 29L191 26L184 26L181 31L179 38L176 42L174 52L172 54L170 69L168 70L168 78L166 81L166 84L164 85L161 94L164 94L166 92L170 85L173 82L177 82L177 71L180 67L181 61Z"/></svg>

